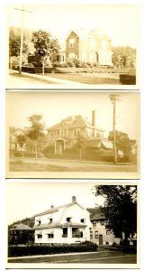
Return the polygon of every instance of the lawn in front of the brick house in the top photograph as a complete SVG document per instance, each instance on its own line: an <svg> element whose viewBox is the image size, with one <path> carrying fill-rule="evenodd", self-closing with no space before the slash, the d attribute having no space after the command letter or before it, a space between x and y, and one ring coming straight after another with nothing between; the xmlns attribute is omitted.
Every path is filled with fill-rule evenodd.
<svg viewBox="0 0 144 271"><path fill-rule="evenodd" d="M46 75L47 76L47 75ZM50 73L48 77L58 78L58 79L67 79L70 81L75 81L78 83L84 83L84 84L94 84L94 85L121 85L120 79L115 78L104 78L103 77L97 77L97 75L89 76L87 74L60 74L60 73Z"/></svg>

